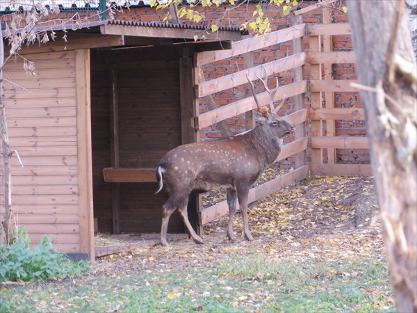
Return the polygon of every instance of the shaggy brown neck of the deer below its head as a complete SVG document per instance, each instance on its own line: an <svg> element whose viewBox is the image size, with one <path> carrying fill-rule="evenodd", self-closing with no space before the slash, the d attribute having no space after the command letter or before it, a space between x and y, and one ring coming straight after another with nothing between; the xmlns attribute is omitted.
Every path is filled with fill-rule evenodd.
<svg viewBox="0 0 417 313"><path fill-rule="evenodd" d="M256 126L252 131L243 135L252 146L256 159L263 163L263 169L273 163L281 152L282 139L268 134L261 126Z"/></svg>

